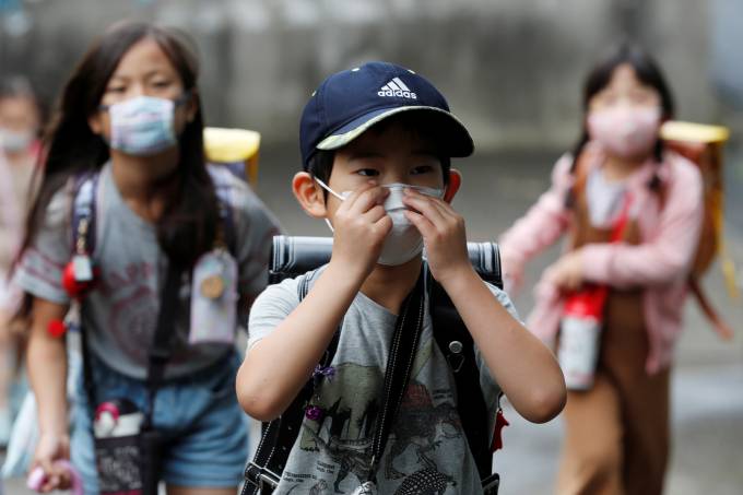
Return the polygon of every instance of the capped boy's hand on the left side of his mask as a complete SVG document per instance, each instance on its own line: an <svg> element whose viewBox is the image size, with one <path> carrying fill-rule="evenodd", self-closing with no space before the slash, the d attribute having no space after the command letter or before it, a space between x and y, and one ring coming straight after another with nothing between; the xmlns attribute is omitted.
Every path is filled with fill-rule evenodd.
<svg viewBox="0 0 743 495"><path fill-rule="evenodd" d="M353 267L351 274L361 281L374 269L392 228L392 219L382 207L387 195L388 189L369 182L349 196L333 216L331 262Z"/></svg>

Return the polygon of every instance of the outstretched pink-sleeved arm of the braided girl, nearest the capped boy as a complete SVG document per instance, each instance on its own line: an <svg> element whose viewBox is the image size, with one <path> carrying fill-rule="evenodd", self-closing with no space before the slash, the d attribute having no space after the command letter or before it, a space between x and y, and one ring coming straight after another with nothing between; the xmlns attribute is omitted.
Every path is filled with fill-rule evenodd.
<svg viewBox="0 0 743 495"><path fill-rule="evenodd" d="M571 163L569 155L559 158L552 172L550 189L498 239L504 270L517 285L524 263L554 244L567 227L565 195L570 187Z"/></svg>

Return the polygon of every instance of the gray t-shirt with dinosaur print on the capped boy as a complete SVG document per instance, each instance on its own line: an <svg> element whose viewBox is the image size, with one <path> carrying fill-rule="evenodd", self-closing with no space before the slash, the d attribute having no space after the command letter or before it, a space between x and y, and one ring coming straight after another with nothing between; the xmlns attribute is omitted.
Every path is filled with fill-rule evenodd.
<svg viewBox="0 0 743 495"><path fill-rule="evenodd" d="M298 306L298 283L305 276L316 280L321 270L269 286L258 297L250 313L248 346L271 333ZM488 287L518 318L506 293ZM396 321L396 315L363 293L356 295L343 319L332 362L334 376L323 379L312 400L323 417L304 419L278 495L350 494L365 481ZM492 431L499 388L476 349L475 356ZM482 493L457 413L453 377L435 343L427 302L411 380L379 463L377 483L380 494ZM417 491L410 491L412 487Z"/></svg>

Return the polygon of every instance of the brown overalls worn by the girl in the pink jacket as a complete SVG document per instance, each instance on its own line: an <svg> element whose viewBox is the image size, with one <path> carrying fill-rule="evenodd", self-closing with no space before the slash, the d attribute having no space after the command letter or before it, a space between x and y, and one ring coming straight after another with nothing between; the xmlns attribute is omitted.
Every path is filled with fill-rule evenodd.
<svg viewBox="0 0 743 495"><path fill-rule="evenodd" d="M576 188L579 189L579 188ZM606 243L589 221L585 188L576 190L575 247ZM637 223L624 233L640 241ZM669 369L649 376L642 288L611 290L595 382L568 391L559 495L660 495L669 455Z"/></svg>

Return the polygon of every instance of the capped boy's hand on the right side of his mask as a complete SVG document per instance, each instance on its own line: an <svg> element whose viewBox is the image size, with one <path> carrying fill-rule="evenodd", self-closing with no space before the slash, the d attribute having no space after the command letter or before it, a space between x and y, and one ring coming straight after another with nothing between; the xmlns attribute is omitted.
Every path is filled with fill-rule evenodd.
<svg viewBox="0 0 743 495"><path fill-rule="evenodd" d="M415 211L405 216L423 236L431 272L441 285L458 273L472 271L467 252L464 219L449 203L425 196L414 189L405 189L403 202Z"/></svg>

